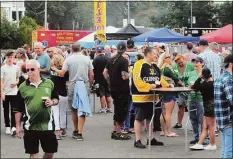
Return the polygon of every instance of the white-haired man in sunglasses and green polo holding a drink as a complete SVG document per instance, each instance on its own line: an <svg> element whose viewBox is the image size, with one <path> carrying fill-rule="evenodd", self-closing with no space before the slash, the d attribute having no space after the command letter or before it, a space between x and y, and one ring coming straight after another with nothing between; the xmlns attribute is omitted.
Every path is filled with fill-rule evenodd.
<svg viewBox="0 0 233 159"><path fill-rule="evenodd" d="M25 100L26 106L19 105L15 108L16 135L20 135L21 113L25 109L27 120L24 124L24 147L30 158L36 158L39 152L39 141L45 152L43 158L53 158L57 152L58 142L54 134L54 121L51 106L57 105L58 95L54 84L49 79L41 79L40 64L36 60L26 63L28 80L23 82L19 91ZM44 102L42 99L46 99Z"/></svg>

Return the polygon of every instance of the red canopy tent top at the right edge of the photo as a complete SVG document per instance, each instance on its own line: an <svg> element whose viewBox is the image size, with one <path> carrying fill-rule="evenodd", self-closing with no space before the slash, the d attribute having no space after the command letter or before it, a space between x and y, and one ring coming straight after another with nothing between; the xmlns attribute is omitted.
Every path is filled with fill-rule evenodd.
<svg viewBox="0 0 233 159"><path fill-rule="evenodd" d="M232 24L226 25L218 30L205 34L200 38L208 40L208 42L230 44L232 43Z"/></svg>

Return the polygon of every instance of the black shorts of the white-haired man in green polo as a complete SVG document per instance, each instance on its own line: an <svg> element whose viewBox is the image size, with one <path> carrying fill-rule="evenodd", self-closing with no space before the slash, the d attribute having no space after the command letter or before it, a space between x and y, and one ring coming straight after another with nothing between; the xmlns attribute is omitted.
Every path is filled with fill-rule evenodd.
<svg viewBox="0 0 233 159"><path fill-rule="evenodd" d="M45 153L55 153L58 149L58 142L54 131L25 130L24 148L25 153L36 154L39 152L39 142Z"/></svg>

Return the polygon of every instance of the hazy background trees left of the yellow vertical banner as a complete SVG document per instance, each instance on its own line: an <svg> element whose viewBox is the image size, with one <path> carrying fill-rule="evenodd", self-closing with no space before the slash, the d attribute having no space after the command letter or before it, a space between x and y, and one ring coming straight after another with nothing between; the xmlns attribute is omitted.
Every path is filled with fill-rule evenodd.
<svg viewBox="0 0 233 159"><path fill-rule="evenodd" d="M49 29L90 30L93 27L93 2L49 1L47 4ZM25 2L26 15L44 24L44 2Z"/></svg>

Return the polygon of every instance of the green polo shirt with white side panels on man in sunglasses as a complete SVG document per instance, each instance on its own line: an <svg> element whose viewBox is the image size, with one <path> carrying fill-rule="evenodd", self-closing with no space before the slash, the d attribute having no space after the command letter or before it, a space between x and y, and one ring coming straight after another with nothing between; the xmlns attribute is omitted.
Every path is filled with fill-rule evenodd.
<svg viewBox="0 0 233 159"><path fill-rule="evenodd" d="M58 95L54 91L53 82L49 79L42 79L41 83L36 87L27 80L19 86L19 91L26 105L27 121L25 122L25 129L37 131L54 130L51 107L45 107L42 102L42 97L58 99ZM20 110L22 110L20 106L16 108L16 111Z"/></svg>

